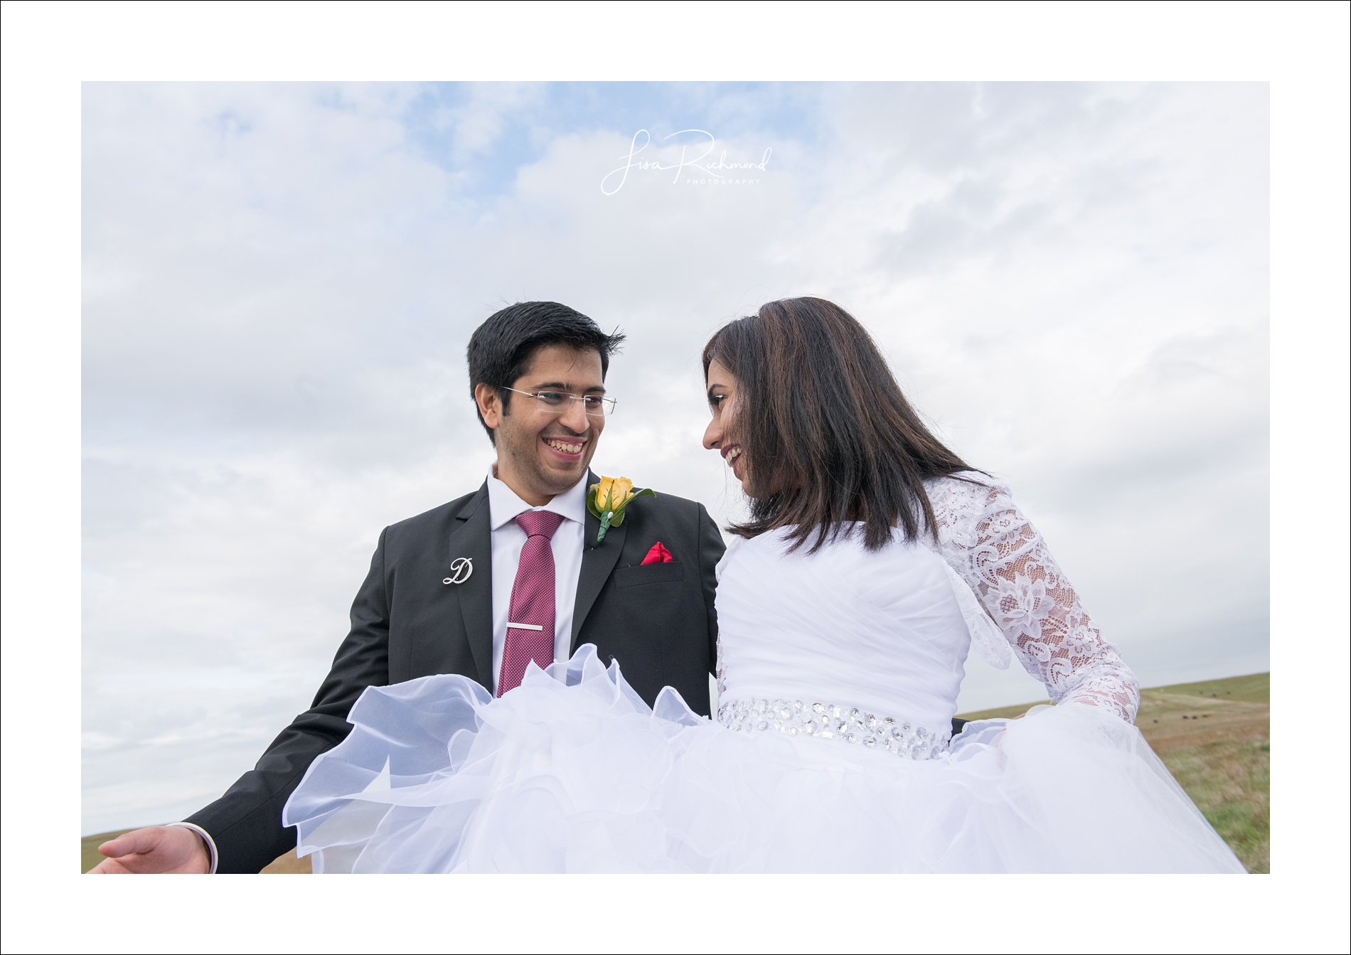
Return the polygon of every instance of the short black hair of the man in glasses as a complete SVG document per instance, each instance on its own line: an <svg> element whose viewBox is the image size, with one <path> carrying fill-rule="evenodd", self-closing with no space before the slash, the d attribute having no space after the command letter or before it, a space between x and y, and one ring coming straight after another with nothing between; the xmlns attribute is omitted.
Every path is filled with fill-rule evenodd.
<svg viewBox="0 0 1351 955"><path fill-rule="evenodd" d="M469 397L474 397L474 388L478 385L488 385L497 390L497 400L505 415L512 396L507 389L526 373L535 351L550 344L598 351L600 377L604 381L609 371L609 357L619 351L623 342L624 335L619 330L607 335L592 319L567 305L557 301L517 301L490 315L470 336ZM497 436L484 421L477 401L474 413L488 432L488 439L496 446Z"/></svg>

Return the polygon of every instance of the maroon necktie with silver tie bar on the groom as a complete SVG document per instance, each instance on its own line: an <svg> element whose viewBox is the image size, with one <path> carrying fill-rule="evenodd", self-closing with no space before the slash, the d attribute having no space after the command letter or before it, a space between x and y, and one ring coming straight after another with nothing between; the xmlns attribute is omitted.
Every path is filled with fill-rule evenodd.
<svg viewBox="0 0 1351 955"><path fill-rule="evenodd" d="M562 523L563 516L553 511L516 515L517 527L526 532L526 546L520 548L516 581L511 585L497 696L520 686L531 661L540 667L554 662L554 548L550 542Z"/></svg>

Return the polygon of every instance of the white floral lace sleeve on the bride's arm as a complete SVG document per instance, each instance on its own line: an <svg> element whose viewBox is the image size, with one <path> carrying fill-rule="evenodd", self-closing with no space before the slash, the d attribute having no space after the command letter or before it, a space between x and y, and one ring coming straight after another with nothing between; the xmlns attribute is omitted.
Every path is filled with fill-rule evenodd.
<svg viewBox="0 0 1351 955"><path fill-rule="evenodd" d="M946 478L928 485L939 551L1056 702L1102 706L1135 721L1140 685L1102 639L1046 542L1008 488Z"/></svg>

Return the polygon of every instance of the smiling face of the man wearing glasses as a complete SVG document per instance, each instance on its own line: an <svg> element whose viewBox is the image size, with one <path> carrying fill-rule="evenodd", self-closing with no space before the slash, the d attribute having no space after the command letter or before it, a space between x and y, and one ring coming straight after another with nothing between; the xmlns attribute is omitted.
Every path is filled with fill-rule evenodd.
<svg viewBox="0 0 1351 955"><path fill-rule="evenodd" d="M569 407L565 397L551 408L532 394L604 394L600 353L546 344L531 355L524 374L511 388L505 408L486 385L476 388L474 397L484 423L493 430L499 480L523 501L539 507L585 477L605 419L588 415L580 400Z"/></svg>

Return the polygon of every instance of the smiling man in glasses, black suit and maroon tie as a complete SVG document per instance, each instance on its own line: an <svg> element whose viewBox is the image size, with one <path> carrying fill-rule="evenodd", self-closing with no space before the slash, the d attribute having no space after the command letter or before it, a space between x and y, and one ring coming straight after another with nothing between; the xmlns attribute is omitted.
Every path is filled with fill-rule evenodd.
<svg viewBox="0 0 1351 955"><path fill-rule="evenodd" d="M281 809L313 759L351 729L367 686L458 673L500 696L534 661L582 643L617 659L648 705L674 686L708 715L723 539L704 507L634 500L597 542L588 470L624 340L553 301L504 308L469 340L469 381L497 462L473 493L386 527L351 631L313 705L224 796L184 823L128 832L97 873L257 873L296 846Z"/></svg>

